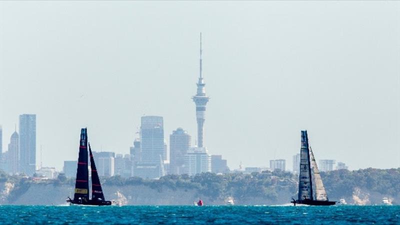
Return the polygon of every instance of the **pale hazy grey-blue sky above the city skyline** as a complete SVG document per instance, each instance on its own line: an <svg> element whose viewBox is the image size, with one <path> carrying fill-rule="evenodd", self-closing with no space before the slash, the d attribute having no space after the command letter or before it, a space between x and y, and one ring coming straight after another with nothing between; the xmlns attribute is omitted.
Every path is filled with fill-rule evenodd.
<svg viewBox="0 0 400 225"><path fill-rule="evenodd" d="M37 164L128 153L140 116L196 138L199 32L210 96L204 145L231 169L300 151L350 169L400 166L400 1L0 1L3 151L37 114Z"/></svg>

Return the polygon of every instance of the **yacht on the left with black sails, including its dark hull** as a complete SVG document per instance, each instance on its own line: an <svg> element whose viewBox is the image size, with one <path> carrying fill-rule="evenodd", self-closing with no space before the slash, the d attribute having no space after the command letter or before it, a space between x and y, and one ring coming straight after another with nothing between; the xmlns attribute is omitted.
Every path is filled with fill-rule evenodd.
<svg viewBox="0 0 400 225"><path fill-rule="evenodd" d="M87 167L87 146L89 147L90 169L91 169L91 199L89 198L89 171ZM87 144L87 128L80 130L78 167L76 170L75 194L73 199L66 200L72 204L85 205L110 205L111 201L104 200L104 194L101 189L100 179L94 164L90 144Z"/></svg>

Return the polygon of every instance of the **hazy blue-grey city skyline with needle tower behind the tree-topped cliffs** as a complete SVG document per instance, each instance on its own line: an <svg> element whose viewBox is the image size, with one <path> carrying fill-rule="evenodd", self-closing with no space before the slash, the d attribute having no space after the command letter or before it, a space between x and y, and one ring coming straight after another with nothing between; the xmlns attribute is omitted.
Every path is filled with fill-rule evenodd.
<svg viewBox="0 0 400 225"><path fill-rule="evenodd" d="M138 176L156 179L166 174L194 175L202 172L262 172L265 170L286 171L285 159L269 161L269 167L245 167L230 170L222 155L211 155L205 147L204 122L205 109L209 97L205 93L205 82L202 76L202 49L200 33L200 71L197 80L197 91L192 100L195 103L197 122L197 143L191 146L191 135L181 127L169 134L169 157L164 138L163 117L146 115L141 117L140 137L132 142L129 154L112 151L93 151L93 157L100 176L120 175L122 177ZM8 149L2 151L2 128L0 126L0 169L7 174L25 174L37 178L55 178L60 172L66 177L76 175L77 160L64 161L63 170L44 167L36 163L36 114L19 115L19 132L11 134ZM77 131L78 132L78 131ZM90 131L89 131L90 132ZM77 148L76 148L77 149ZM76 156L77 157L77 156ZM300 154L293 155L292 172L299 170ZM347 169L343 162L331 159L318 161L320 171ZM90 172L90 168L89 168Z"/></svg>

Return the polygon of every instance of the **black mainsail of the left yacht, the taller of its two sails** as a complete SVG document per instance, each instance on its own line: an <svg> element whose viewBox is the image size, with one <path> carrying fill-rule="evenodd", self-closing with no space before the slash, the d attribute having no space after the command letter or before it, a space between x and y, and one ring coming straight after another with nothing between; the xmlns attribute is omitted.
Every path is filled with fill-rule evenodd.
<svg viewBox="0 0 400 225"><path fill-rule="evenodd" d="M89 200L89 172L87 168L87 129L80 129L79 158L76 169L74 201Z"/></svg>

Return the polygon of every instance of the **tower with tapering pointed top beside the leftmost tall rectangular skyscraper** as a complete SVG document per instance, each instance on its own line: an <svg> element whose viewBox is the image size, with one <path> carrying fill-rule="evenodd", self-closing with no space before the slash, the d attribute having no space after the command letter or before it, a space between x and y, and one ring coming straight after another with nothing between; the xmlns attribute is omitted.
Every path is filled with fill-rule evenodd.
<svg viewBox="0 0 400 225"><path fill-rule="evenodd" d="M16 131L14 131L11 135L8 144L8 152L6 155L6 171L9 174L15 174L19 172L19 135Z"/></svg>

